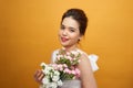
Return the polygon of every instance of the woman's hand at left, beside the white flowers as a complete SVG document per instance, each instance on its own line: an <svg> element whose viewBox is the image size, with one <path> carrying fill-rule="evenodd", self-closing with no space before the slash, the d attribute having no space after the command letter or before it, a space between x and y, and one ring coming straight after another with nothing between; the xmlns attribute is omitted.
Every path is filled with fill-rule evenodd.
<svg viewBox="0 0 133 88"><path fill-rule="evenodd" d="M34 73L34 79L39 84L42 84L42 78L44 77L44 74L42 73L41 69L38 69L35 73Z"/></svg>

